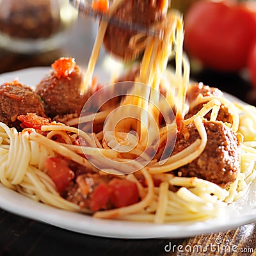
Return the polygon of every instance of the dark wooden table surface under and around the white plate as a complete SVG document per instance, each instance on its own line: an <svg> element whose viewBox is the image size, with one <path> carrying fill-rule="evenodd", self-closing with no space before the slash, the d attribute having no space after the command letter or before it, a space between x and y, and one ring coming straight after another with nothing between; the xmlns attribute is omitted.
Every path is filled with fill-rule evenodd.
<svg viewBox="0 0 256 256"><path fill-rule="evenodd" d="M79 20L60 49L44 54L21 55L0 50L0 74L26 67L49 66L60 56L73 56L79 65L86 65L92 49L93 28L95 24L92 22ZM192 78L232 93L246 102L256 103L256 93L241 74L202 70L192 74ZM198 246L216 246L216 239L221 239L218 241L229 245L229 248L235 248L236 252L208 249L199 253L196 250ZM195 250L168 252L170 244L172 248L183 246ZM256 255L256 227L252 223L235 230L186 239L110 239L77 234L0 209L0 255Z"/></svg>

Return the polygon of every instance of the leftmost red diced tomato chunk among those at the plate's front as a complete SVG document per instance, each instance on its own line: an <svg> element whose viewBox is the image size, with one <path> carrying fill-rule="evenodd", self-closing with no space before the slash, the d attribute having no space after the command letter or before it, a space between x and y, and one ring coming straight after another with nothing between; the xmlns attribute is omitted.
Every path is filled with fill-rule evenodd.
<svg viewBox="0 0 256 256"><path fill-rule="evenodd" d="M65 191L70 180L75 177L74 172L68 167L67 161L59 157L46 159L45 168L60 193Z"/></svg>

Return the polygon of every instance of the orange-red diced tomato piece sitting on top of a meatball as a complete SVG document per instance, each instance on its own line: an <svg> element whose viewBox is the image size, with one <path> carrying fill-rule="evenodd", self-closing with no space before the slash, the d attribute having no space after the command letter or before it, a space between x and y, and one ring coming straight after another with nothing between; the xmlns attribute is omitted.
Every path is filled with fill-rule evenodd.
<svg viewBox="0 0 256 256"><path fill-rule="evenodd" d="M60 58L52 63L52 68L55 71L56 77L67 77L76 67L74 58Z"/></svg>

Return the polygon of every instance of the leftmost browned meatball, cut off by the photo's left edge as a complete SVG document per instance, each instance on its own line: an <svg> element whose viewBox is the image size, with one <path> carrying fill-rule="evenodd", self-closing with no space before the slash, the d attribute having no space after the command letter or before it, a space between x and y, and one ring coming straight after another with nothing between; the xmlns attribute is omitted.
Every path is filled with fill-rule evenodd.
<svg viewBox="0 0 256 256"><path fill-rule="evenodd" d="M18 81L8 82L0 86L0 122L20 130L19 115L35 113L45 117L44 104L31 88Z"/></svg>

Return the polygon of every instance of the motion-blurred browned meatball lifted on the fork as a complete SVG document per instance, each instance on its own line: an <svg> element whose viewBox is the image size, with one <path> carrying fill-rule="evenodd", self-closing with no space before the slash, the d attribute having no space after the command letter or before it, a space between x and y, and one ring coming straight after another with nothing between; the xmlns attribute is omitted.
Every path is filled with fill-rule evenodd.
<svg viewBox="0 0 256 256"><path fill-rule="evenodd" d="M149 27L161 21L166 15L166 0L125 0L113 15L114 19L125 20L132 24ZM138 32L109 24L104 36L104 47L117 58L131 61L137 58L144 49L129 47L132 36Z"/></svg>

